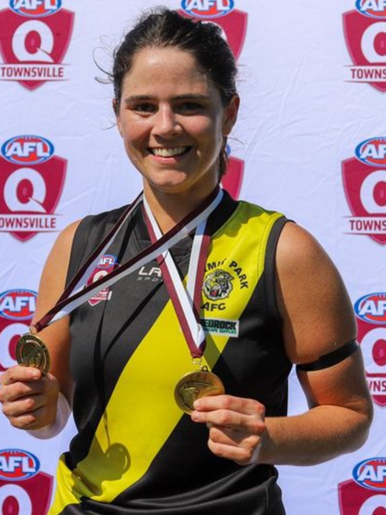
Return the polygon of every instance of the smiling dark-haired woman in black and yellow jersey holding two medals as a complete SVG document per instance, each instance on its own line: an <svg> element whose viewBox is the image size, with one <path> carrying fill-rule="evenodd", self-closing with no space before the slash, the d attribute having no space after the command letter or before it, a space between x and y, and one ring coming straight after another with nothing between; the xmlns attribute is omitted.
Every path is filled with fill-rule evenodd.
<svg viewBox="0 0 386 515"><path fill-rule="evenodd" d="M166 9L144 16L115 54L113 107L144 199L100 263L119 270L162 234L189 234L43 329L50 373L2 375L15 427L52 435L65 399L73 406L78 434L51 515L279 515L274 465L318 464L366 439L371 400L337 270L305 230L218 188L235 75L216 26ZM59 236L35 321L122 212ZM145 272L152 281L139 280ZM292 364L310 408L287 417Z"/></svg>

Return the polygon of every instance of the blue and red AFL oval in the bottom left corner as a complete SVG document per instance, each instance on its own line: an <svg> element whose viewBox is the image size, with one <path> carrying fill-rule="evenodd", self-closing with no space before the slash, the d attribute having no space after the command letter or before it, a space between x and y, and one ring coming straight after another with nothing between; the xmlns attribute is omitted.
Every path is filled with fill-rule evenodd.
<svg viewBox="0 0 386 515"><path fill-rule="evenodd" d="M0 451L0 478L23 481L39 472L40 463L33 454L20 449Z"/></svg>

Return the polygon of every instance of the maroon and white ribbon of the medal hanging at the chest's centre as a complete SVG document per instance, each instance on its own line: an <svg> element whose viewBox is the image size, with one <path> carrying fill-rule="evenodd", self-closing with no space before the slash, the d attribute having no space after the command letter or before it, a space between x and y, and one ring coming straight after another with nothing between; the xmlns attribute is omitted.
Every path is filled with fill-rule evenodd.
<svg viewBox="0 0 386 515"><path fill-rule="evenodd" d="M217 205L220 203L222 196L223 193L220 190ZM160 240L162 233L146 199L144 199L144 208L150 238L154 243ZM170 299L193 358L200 358L205 349L205 332L199 314L201 286L210 242L209 235L205 233L206 220L207 218L203 219L196 228L190 253L186 289L170 252L167 250L162 255L157 256Z"/></svg>

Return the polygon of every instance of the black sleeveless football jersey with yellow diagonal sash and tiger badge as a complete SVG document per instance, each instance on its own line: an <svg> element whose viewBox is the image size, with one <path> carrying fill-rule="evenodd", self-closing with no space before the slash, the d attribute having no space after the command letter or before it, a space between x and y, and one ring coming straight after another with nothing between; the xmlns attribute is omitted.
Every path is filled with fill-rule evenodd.
<svg viewBox="0 0 386 515"><path fill-rule="evenodd" d="M150 244L142 207L115 237L89 281ZM122 209L86 217L68 278ZM226 393L254 398L267 416L287 411L291 369L275 301L274 256L286 218L225 194L210 215L200 318L203 365ZM171 249L186 279L192 239ZM282 515L277 472L214 456L208 430L179 409L174 387L195 367L153 261L71 315L73 413L78 434L59 462L50 515Z"/></svg>

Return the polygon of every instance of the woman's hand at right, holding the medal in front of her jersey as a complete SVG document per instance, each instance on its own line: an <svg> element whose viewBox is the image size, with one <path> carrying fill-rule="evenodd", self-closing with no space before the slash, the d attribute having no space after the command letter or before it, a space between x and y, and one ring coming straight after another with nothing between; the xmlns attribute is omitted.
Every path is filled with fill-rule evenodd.
<svg viewBox="0 0 386 515"><path fill-rule="evenodd" d="M194 422L209 429L208 447L221 458L238 465L258 461L261 438L266 431L265 407L253 399L230 395L202 397L194 403Z"/></svg>

